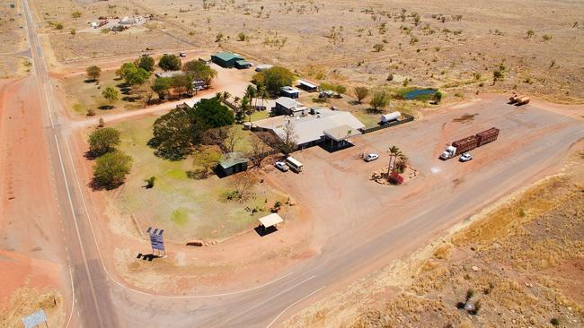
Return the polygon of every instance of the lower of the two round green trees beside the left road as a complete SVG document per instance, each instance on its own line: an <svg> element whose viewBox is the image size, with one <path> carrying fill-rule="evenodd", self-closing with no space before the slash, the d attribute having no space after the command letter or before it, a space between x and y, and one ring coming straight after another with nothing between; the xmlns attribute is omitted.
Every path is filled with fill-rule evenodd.
<svg viewBox="0 0 584 328"><path fill-rule="evenodd" d="M93 186L113 189L124 183L132 168L132 158L121 151L109 152L93 166Z"/></svg>

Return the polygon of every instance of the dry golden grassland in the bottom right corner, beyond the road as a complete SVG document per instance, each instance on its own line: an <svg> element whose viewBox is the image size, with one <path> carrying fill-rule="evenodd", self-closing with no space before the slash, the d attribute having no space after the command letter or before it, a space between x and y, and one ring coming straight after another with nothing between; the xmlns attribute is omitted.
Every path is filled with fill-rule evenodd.
<svg viewBox="0 0 584 328"><path fill-rule="evenodd" d="M288 326L546 326L559 318L562 326L580 327L584 165L578 154L572 160L579 164L566 174L481 213L402 263L402 271L394 264L306 309ZM474 293L468 303L482 305L477 315L456 308L469 289Z"/></svg>

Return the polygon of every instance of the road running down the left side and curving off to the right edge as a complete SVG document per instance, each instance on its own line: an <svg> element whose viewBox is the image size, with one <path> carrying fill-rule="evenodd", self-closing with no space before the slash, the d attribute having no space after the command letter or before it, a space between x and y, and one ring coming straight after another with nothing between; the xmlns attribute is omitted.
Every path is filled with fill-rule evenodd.
<svg viewBox="0 0 584 328"><path fill-rule="evenodd" d="M320 255L299 263L265 286L226 291L218 296L163 297L148 295L115 281L102 263L91 226L89 201L79 186L69 149L66 120L59 117L58 101L45 65L42 47L27 0L23 0L51 168L58 177L58 202L64 215L67 252L73 269L74 307L71 327L268 327L281 324L295 311L330 293L340 281L350 282L389 260L406 255L439 229L462 220L469 212L501 194L522 186L541 168L562 155L584 134L569 126L550 135L549 148L534 149L509 165L493 168L476 178L481 188L461 188L452 194L437 189L428 196L442 200L419 209L400 225L379 225L371 218L332 237ZM527 169L534 168L534 169ZM493 177L499 180L493 181ZM503 182L500 182L503 181ZM334 288L333 288L334 287Z"/></svg>

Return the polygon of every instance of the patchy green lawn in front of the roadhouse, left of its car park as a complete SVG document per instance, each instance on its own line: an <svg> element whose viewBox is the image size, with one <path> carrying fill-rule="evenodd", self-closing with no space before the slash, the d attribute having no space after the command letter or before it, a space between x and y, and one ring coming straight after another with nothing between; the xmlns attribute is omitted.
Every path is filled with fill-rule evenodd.
<svg viewBox="0 0 584 328"><path fill-rule="evenodd" d="M124 217L134 214L142 228L164 229L164 236L180 242L228 237L257 226L257 220L267 215L276 201L285 203L288 199L288 195L257 183L249 199L227 201L222 195L233 190L237 176L191 179L186 173L193 168L191 158L169 161L155 157L154 150L146 145L152 137L155 118L113 126L122 135L119 148L132 156L134 165L126 184L112 194L112 203ZM243 136L235 151L248 151L252 134L243 131L242 125L233 128ZM144 187L148 177L156 177L152 189ZM258 212L252 215L251 209Z"/></svg>

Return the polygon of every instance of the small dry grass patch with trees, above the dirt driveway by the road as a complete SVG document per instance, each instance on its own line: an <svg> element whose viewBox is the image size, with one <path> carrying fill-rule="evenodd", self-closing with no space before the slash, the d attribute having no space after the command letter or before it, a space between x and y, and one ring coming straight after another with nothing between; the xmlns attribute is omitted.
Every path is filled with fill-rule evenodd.
<svg viewBox="0 0 584 328"><path fill-rule="evenodd" d="M87 109L92 108L96 114L119 112L128 109L142 108L142 102L137 99L131 101L131 95L123 94L117 86L122 80L116 81L115 72L102 72L99 85L95 82L87 82L85 75L67 77L63 80L63 86L66 91L66 99L69 107L76 115L86 115ZM102 91L107 87L113 87L119 92L119 99L115 101L111 109L100 109L103 106L109 106L110 103L103 99Z"/></svg>

